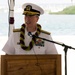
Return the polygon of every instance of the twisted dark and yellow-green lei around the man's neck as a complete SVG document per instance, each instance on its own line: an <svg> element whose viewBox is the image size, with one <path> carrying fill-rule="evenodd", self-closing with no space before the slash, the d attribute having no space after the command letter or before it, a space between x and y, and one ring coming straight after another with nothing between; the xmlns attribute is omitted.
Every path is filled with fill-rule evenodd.
<svg viewBox="0 0 75 75"><path fill-rule="evenodd" d="M41 32L41 26L39 24L37 24L37 32L35 33L35 36L39 36L40 32ZM29 51L33 48L33 45L36 42L36 38L32 37L32 40L30 41L29 46L25 46L25 42L24 42L25 37L24 37L24 35L25 35L25 24L23 24L21 26L20 46L23 50Z"/></svg>

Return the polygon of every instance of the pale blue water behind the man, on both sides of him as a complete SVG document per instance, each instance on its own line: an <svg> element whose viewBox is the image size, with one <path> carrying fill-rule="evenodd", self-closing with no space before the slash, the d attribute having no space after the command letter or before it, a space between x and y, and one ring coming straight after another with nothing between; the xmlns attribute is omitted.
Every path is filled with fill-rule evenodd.
<svg viewBox="0 0 75 75"><path fill-rule="evenodd" d="M0 35L7 36L9 30L8 13L0 13ZM20 28L24 23L23 15L15 13L15 28ZM75 34L75 15L49 15L40 16L39 24L42 29L52 33L52 35L74 35Z"/></svg>

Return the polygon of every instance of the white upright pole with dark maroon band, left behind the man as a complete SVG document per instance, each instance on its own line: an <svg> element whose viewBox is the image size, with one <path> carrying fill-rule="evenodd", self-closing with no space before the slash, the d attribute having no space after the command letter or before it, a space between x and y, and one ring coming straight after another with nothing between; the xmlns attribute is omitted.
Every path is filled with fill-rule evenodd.
<svg viewBox="0 0 75 75"><path fill-rule="evenodd" d="M8 31L8 36L10 36L13 33L13 29L14 29L14 5L15 5L15 0L8 0L8 6L9 6L9 31Z"/></svg>

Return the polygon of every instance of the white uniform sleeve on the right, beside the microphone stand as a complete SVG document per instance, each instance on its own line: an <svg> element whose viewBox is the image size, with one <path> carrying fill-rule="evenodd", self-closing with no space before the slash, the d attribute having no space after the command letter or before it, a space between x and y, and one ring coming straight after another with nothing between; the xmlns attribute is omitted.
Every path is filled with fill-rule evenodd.
<svg viewBox="0 0 75 75"><path fill-rule="evenodd" d="M47 39L53 40L51 35ZM46 41L46 54L58 54L54 43Z"/></svg>

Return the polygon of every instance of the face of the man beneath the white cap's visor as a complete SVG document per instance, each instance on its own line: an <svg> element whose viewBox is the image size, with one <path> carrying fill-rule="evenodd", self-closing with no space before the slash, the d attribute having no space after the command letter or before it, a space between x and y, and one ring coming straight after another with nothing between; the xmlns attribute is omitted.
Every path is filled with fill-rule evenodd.
<svg viewBox="0 0 75 75"><path fill-rule="evenodd" d="M24 20L27 27L35 26L39 17L37 15L25 15Z"/></svg>

